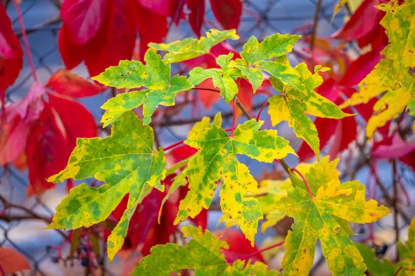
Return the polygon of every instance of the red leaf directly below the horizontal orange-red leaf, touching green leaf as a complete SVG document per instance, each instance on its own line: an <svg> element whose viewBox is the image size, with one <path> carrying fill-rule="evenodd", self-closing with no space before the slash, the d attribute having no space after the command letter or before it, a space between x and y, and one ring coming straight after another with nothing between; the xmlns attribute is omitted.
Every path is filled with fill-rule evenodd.
<svg viewBox="0 0 415 276"><path fill-rule="evenodd" d="M48 94L48 98L50 106L56 110L64 124L70 152L75 148L77 138L97 136L98 128L95 119L81 103L57 94Z"/></svg>

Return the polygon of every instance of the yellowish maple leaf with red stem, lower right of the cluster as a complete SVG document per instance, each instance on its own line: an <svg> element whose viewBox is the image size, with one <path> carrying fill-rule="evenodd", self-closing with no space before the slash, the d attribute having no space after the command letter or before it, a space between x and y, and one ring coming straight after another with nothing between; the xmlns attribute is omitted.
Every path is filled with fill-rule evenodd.
<svg viewBox="0 0 415 276"><path fill-rule="evenodd" d="M365 224L385 217L390 211L373 199L366 201L365 186L358 181L340 185L338 173L332 171L334 164L337 161L309 168L305 177L313 198L303 182L302 187L293 185L295 188L288 190L286 197L275 202L277 210L294 219L293 230L284 244L283 275L308 275L317 239L333 275L362 275L366 270L358 248L349 237L353 232L347 221ZM323 176L328 170L332 171L329 176Z"/></svg>

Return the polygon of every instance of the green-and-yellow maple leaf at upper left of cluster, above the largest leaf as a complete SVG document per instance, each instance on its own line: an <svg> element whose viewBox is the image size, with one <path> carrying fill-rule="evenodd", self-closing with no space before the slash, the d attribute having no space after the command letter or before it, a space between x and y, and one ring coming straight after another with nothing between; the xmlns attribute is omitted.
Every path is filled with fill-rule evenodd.
<svg viewBox="0 0 415 276"><path fill-rule="evenodd" d="M102 109L107 110L101 120L104 127L127 110L139 106L143 106L142 121L149 124L151 115L159 105L174 106L174 97L178 92L194 87L184 76L175 75L170 79L171 66L165 65L161 57L152 50L147 50L144 60L145 65L140 61L120 61L118 66L111 66L92 78L115 88L130 89L142 86L148 88L120 94L104 103L101 106Z"/></svg>

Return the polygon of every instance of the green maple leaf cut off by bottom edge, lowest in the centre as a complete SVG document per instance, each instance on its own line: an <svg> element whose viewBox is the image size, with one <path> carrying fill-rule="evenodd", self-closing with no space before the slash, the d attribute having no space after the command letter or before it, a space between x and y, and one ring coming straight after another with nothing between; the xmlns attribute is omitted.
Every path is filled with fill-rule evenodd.
<svg viewBox="0 0 415 276"><path fill-rule="evenodd" d="M151 248L151 254L140 260L131 275L158 275L169 276L180 273L181 270L193 269L196 276L243 276L243 275L279 275L276 270L267 270L265 264L256 262L245 265L237 260L228 264L221 248L228 249L226 242L222 242L205 230L194 226L181 228L184 237L192 236L185 246L178 244L156 245Z"/></svg>

